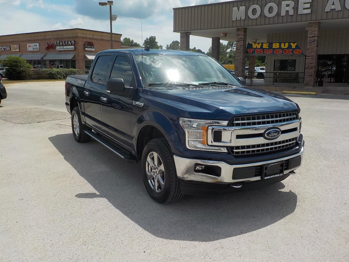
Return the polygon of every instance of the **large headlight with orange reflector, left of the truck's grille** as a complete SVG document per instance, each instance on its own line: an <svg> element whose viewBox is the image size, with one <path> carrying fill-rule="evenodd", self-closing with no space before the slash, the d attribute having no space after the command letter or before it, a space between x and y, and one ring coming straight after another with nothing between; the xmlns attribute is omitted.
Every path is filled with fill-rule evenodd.
<svg viewBox="0 0 349 262"><path fill-rule="evenodd" d="M228 152L225 147L207 145L207 127L209 125L228 125L228 121L179 118L179 124L185 131L186 146L191 150Z"/></svg>

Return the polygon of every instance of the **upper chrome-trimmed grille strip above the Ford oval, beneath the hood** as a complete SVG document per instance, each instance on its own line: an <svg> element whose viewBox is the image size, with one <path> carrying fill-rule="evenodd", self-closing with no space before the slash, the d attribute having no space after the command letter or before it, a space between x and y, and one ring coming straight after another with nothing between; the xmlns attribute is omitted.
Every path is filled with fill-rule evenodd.
<svg viewBox="0 0 349 262"><path fill-rule="evenodd" d="M231 126L254 126L279 124L298 119L298 112L263 114L255 116L239 116L232 119Z"/></svg>

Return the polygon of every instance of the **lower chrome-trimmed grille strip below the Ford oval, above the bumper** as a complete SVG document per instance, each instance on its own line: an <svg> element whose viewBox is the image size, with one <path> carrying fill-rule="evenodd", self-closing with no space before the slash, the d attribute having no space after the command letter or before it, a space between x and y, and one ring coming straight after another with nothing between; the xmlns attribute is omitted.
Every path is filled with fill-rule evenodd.
<svg viewBox="0 0 349 262"><path fill-rule="evenodd" d="M282 150L296 145L297 138L298 137L294 137L291 139L257 145L232 146L231 152L233 155L250 155Z"/></svg>

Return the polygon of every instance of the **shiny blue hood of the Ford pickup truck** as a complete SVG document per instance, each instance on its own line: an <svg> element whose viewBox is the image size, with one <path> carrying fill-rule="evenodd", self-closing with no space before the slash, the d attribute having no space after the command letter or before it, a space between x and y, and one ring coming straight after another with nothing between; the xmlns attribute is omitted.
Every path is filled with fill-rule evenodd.
<svg viewBox="0 0 349 262"><path fill-rule="evenodd" d="M295 102L282 95L245 86L149 89L149 94L199 119L230 120L232 115L298 110Z"/></svg>

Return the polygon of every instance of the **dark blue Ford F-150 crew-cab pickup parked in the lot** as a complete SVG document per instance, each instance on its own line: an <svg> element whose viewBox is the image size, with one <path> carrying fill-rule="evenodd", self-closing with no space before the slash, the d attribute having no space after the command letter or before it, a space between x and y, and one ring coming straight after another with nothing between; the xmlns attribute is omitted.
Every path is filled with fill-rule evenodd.
<svg viewBox="0 0 349 262"><path fill-rule="evenodd" d="M65 85L75 140L141 161L158 203L273 184L303 160L298 105L201 53L106 50Z"/></svg>

